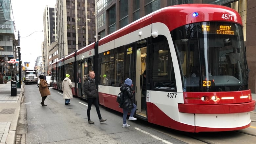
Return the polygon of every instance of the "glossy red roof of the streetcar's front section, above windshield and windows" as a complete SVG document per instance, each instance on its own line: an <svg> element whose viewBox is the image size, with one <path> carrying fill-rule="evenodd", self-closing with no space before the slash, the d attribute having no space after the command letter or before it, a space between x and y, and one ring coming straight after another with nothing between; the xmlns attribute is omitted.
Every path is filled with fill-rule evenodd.
<svg viewBox="0 0 256 144"><path fill-rule="evenodd" d="M197 17L193 17L193 13L198 12ZM232 14L234 17L231 20L224 20L222 14ZM182 4L174 5L156 10L127 26L114 31L113 33L101 38L99 40L99 46L110 41L117 39L118 37L129 34L133 31L139 30L152 23L164 23L169 31L172 31L183 25L204 22L204 21L228 21L242 25L242 19L236 10L233 10L226 6L214 5L214 4Z"/></svg>

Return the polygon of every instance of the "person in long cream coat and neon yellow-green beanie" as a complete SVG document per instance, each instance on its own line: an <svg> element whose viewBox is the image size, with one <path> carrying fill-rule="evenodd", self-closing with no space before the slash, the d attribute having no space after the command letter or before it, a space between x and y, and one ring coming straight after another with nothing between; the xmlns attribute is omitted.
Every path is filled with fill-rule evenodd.
<svg viewBox="0 0 256 144"><path fill-rule="evenodd" d="M65 105L70 105L70 99L73 98L72 82L69 77L70 75L66 74L66 78L64 78L62 82L63 99L65 99Z"/></svg>

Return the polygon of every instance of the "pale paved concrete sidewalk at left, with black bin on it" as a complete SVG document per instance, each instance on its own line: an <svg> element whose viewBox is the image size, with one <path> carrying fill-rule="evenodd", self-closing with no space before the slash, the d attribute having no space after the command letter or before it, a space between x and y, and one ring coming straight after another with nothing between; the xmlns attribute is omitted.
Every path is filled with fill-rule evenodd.
<svg viewBox="0 0 256 144"><path fill-rule="evenodd" d="M11 96L11 82L0 84L0 144L15 144L23 86Z"/></svg>

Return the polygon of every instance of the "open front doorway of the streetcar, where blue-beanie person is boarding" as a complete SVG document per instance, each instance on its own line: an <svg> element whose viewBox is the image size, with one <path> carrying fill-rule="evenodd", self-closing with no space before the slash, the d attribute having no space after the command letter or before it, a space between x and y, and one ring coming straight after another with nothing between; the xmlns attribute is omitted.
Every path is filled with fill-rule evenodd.
<svg viewBox="0 0 256 144"><path fill-rule="evenodd" d="M142 117L147 117L146 96L145 93L142 92L142 85L146 82L146 77L143 78L143 72L146 70L146 57L147 41L144 39L136 42L136 114Z"/></svg>

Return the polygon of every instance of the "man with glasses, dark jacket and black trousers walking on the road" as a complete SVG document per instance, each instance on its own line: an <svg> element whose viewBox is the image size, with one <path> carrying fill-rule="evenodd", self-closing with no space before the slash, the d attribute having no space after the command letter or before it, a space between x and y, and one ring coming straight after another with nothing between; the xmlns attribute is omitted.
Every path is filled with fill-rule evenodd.
<svg viewBox="0 0 256 144"><path fill-rule="evenodd" d="M84 93L87 95L87 100L88 100L87 118L88 118L89 124L94 123L94 121L91 121L91 118L90 118L90 111L92 108L92 104L94 104L96 107L96 112L99 117L99 122L106 121L106 119L103 119L100 115L99 104L98 104L98 92L96 89L94 77L95 77L94 71L89 71L89 75L87 76L84 75L83 77L84 78L83 89L84 89Z"/></svg>

